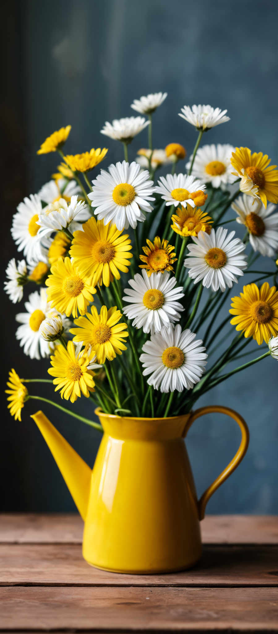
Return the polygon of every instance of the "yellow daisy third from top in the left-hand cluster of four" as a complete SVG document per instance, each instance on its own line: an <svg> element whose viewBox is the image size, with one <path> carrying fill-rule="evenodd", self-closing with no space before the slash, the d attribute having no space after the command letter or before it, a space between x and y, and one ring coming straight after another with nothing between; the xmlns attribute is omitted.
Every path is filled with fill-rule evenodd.
<svg viewBox="0 0 278 634"><path fill-rule="evenodd" d="M122 354L122 350L127 347L122 343L129 336L126 323L118 323L122 313L117 310L117 306L112 306L107 310L106 306L98 311L95 306L91 306L91 314L86 313L84 317L75 320L78 328L71 328L70 332L73 341L83 341L84 344L91 344L96 351L98 363L104 363L106 357L109 361L115 359L116 354Z"/></svg>

